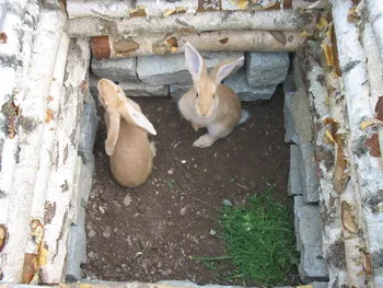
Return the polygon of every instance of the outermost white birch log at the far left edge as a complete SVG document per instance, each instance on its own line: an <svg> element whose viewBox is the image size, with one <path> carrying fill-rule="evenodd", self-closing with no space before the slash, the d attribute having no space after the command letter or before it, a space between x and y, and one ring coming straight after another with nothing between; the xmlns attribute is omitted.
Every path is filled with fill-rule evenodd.
<svg viewBox="0 0 383 288"><path fill-rule="evenodd" d="M18 102L18 97L22 97L24 93L24 85L27 79L27 69L31 60L31 50L33 42L33 21L38 19L38 1L18 1L19 9L5 11L7 5L1 14L3 20L1 31L11 39L7 44L1 44L3 48L0 53L3 64L0 68L0 106L10 100L11 95ZM14 4L10 2L9 4ZM26 14L25 12L28 11ZM1 12L0 12L1 13ZM10 46L8 46L10 45ZM13 50L14 49L14 50ZM7 55L7 56L5 56ZM16 91L16 93L14 93ZM18 103L16 103L18 105ZM0 122L7 122L5 116L0 114ZM16 163L15 154L19 145L19 136L10 139L5 131L1 130L0 138L3 142L1 154L1 171L0 171L0 189L4 195L0 197L0 223L7 223L9 212L9 193L12 184L12 176ZM0 257L1 267L1 257Z"/></svg>

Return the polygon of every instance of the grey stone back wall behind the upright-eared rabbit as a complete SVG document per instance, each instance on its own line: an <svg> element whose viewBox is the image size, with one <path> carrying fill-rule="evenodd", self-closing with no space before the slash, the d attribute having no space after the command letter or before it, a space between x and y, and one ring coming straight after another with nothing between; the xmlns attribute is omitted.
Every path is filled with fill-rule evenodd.
<svg viewBox="0 0 383 288"><path fill-rule="evenodd" d="M242 101L269 100L279 83L283 82L290 66L288 53L201 53L208 71L229 59L246 57L224 83L232 88ZM147 56L125 59L92 60L96 78L118 82L129 96L167 96L174 101L193 84L184 55ZM92 87L95 88L93 82Z"/></svg>

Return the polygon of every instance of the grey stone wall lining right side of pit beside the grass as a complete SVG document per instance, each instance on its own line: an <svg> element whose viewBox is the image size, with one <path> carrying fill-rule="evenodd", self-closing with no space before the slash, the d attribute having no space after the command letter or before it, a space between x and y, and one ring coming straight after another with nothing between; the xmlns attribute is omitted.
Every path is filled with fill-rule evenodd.
<svg viewBox="0 0 383 288"><path fill-rule="evenodd" d="M292 76L283 83L283 92L285 140L291 143L288 194L293 197L297 250L301 253L299 274L303 283L328 281L309 95L297 89ZM300 104L293 107L294 103Z"/></svg>

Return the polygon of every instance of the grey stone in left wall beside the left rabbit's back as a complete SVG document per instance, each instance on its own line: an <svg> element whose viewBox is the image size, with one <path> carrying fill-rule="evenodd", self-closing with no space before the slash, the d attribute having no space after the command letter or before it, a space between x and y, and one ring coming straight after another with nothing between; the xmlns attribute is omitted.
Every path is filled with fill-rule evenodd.
<svg viewBox="0 0 383 288"><path fill-rule="evenodd" d="M84 104L79 137L79 155L81 155L84 163L92 159L97 125L98 117L95 103Z"/></svg>

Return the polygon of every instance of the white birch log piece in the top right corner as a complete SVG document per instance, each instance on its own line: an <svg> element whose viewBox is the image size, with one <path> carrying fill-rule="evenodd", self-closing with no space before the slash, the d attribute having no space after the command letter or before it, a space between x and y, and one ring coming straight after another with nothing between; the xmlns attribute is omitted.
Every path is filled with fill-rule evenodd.
<svg viewBox="0 0 383 288"><path fill-rule="evenodd" d="M383 1L382 0L367 0L365 8L368 12L369 22L372 26L380 50L381 62L383 62Z"/></svg>

